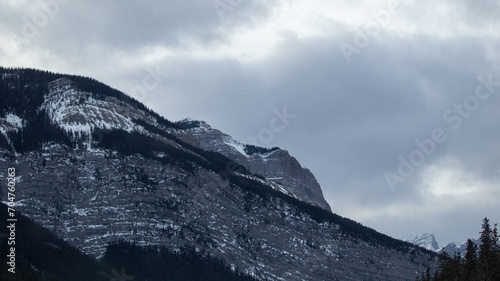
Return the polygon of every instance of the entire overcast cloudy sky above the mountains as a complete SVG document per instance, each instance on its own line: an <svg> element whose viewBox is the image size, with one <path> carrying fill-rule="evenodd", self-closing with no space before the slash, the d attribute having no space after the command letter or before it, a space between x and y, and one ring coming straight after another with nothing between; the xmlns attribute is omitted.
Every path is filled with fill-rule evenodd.
<svg viewBox="0 0 500 281"><path fill-rule="evenodd" d="M498 15L498 0L7 0L0 65L287 149L334 212L442 245L500 222Z"/></svg>

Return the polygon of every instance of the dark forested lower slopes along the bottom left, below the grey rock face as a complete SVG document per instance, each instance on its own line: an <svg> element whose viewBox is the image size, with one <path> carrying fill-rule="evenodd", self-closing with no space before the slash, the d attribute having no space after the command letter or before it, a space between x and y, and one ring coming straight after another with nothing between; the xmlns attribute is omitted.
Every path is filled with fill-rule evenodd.
<svg viewBox="0 0 500 281"><path fill-rule="evenodd" d="M6 227L7 214L7 206L0 203L2 229ZM22 214L17 213L16 219L16 244L8 245L6 238L0 238L0 280L191 281L200 280L200 276L203 280L256 280L192 249L171 253L161 248L141 248L121 242L108 245L105 258L98 261L82 254ZM11 251L11 247L15 251ZM15 254L13 266L4 260L12 253Z"/></svg>

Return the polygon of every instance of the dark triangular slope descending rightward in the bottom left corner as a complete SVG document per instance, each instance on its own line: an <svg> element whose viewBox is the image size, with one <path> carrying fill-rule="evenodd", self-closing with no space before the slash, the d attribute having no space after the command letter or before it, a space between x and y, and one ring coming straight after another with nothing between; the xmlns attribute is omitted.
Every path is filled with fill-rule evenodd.
<svg viewBox="0 0 500 281"><path fill-rule="evenodd" d="M1 229L6 228L7 214L7 206L0 204ZM16 218L15 244L0 240L1 280L110 280L109 266L83 255L26 217L16 214ZM11 248L15 249L13 267L5 260ZM14 272L8 271L12 268Z"/></svg>

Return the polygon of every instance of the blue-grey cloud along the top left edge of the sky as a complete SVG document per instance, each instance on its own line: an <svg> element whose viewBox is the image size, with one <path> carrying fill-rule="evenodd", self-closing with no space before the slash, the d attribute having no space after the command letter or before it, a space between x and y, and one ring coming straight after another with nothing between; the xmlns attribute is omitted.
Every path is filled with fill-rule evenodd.
<svg viewBox="0 0 500 281"><path fill-rule="evenodd" d="M231 30L258 24L273 7L272 2L262 1L244 1L222 10L213 4L217 1L60 2L3 5L2 25L17 39L28 39L18 40L23 47L36 45L77 59L82 53L92 55L86 52L96 48L112 54L155 45L182 49L186 40L220 44L228 40Z"/></svg>

